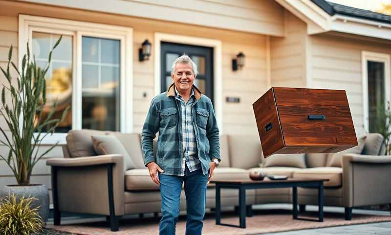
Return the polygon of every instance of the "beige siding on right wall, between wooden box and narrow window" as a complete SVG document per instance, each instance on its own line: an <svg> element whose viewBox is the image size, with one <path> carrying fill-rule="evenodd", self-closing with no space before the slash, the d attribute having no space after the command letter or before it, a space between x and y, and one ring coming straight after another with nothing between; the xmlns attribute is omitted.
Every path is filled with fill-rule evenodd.
<svg viewBox="0 0 391 235"><path fill-rule="evenodd" d="M368 40L331 33L310 37L311 87L346 90L357 136L365 134L361 51L391 53L390 44Z"/></svg>

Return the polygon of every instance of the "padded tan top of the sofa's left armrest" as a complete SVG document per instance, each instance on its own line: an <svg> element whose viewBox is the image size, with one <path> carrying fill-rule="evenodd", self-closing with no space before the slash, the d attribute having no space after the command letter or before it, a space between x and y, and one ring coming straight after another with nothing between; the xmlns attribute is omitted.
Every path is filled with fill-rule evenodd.
<svg viewBox="0 0 391 235"><path fill-rule="evenodd" d="M51 158L46 160L46 165L50 166L87 166L101 164L121 164L123 156L120 154L107 154L79 158ZM123 163L122 163L123 164Z"/></svg>

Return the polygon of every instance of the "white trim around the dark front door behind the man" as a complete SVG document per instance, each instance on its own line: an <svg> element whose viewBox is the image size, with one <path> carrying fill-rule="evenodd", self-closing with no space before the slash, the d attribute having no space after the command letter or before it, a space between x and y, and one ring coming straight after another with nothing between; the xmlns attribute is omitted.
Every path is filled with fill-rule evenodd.
<svg viewBox="0 0 391 235"><path fill-rule="evenodd" d="M213 86L215 113L220 134L223 130L222 112L222 52L221 41L207 38L190 37L176 34L155 33L154 37L154 96L160 94L160 44L161 42L181 43L203 47L213 47Z"/></svg>

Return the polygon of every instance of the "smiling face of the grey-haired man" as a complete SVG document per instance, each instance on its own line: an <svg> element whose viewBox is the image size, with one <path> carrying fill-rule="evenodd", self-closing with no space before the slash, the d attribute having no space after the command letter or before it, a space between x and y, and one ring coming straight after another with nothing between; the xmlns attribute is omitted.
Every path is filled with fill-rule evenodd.
<svg viewBox="0 0 391 235"><path fill-rule="evenodd" d="M176 63L175 72L171 74L171 77L179 92L190 91L195 79L192 64Z"/></svg>

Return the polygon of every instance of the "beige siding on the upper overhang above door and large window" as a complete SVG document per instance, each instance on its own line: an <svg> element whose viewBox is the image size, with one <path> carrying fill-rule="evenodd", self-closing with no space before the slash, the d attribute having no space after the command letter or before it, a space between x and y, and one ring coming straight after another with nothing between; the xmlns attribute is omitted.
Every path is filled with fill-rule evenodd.
<svg viewBox="0 0 391 235"><path fill-rule="evenodd" d="M283 8L274 0L24 0L160 21L282 36Z"/></svg>

